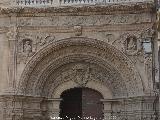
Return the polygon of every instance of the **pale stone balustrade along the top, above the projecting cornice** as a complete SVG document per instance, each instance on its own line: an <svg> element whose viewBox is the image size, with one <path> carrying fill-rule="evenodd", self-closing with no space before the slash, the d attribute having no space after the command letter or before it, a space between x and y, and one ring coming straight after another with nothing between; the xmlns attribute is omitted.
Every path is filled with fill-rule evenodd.
<svg viewBox="0 0 160 120"><path fill-rule="evenodd" d="M16 0L19 6L55 6L55 5L81 5L81 4L118 4L129 2L145 2L153 0Z"/></svg>

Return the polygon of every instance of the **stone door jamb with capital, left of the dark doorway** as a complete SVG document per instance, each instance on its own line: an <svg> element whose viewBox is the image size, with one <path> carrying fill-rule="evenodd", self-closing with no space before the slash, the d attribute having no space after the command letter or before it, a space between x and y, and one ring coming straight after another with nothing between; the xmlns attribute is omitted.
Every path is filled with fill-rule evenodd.
<svg viewBox="0 0 160 120"><path fill-rule="evenodd" d="M51 120L59 120L60 102L62 99L48 99L48 113Z"/></svg>

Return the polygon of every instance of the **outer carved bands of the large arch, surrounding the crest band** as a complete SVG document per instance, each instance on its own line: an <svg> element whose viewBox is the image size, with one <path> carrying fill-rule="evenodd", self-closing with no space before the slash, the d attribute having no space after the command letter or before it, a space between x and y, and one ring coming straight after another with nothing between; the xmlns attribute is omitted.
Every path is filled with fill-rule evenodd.
<svg viewBox="0 0 160 120"><path fill-rule="evenodd" d="M20 79L21 92L23 94L36 94L35 88L39 87L41 89L41 87L44 87L43 84L47 84L45 78L49 78L52 73L56 75L56 70L58 68L73 62L97 64L98 66L104 66L106 68L105 71L109 69L108 74L104 74L101 71L96 72L96 76L92 76L94 76L96 80L99 79L100 82L107 78L112 78L111 80L114 78L118 83L106 80L106 84L108 86L111 85L111 89L113 89L114 92L117 90L115 95L119 94L118 91L120 91L121 88L123 89L123 85L120 83L125 84L128 96L143 94L141 78L129 58L105 42L76 37L53 42L36 53L22 73ZM72 71L69 71L69 73L62 73L71 74ZM60 76L67 77L67 75ZM61 79L58 76L53 76L51 78L55 81L59 81ZM120 79L123 80L123 82L121 82ZM53 82L52 80L50 82ZM49 82L49 80L47 80L47 82ZM49 84L50 83L47 85ZM56 82L56 84L58 84L58 82Z"/></svg>

